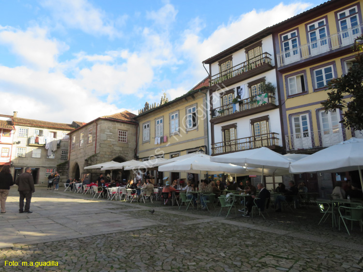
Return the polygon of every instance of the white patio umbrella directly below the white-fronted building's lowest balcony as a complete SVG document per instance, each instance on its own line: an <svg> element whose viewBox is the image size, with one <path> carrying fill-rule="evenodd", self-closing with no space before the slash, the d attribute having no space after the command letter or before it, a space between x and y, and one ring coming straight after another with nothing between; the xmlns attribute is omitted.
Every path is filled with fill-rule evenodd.
<svg viewBox="0 0 363 272"><path fill-rule="evenodd" d="M287 171L291 163L283 155L266 147L213 156L211 157L211 161L231 163L248 168L261 168L261 183L266 168Z"/></svg>

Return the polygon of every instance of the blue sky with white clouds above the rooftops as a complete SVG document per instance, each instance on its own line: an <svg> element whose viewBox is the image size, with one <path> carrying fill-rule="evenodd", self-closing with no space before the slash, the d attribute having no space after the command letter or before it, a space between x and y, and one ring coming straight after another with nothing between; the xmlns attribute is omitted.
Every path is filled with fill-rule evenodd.
<svg viewBox="0 0 363 272"><path fill-rule="evenodd" d="M137 114L193 89L203 60L323 2L0 0L0 114Z"/></svg>

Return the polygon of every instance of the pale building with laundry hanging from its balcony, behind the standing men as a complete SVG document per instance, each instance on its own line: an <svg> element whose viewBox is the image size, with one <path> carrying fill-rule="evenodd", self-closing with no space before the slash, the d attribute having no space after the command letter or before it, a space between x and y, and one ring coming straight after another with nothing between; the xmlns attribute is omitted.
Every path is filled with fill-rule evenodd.
<svg viewBox="0 0 363 272"><path fill-rule="evenodd" d="M66 164L69 150L67 134L75 127L72 124L19 118L16 111L14 116L9 117L11 119L15 128L10 158L14 179L30 167L35 184L46 185L47 177L56 171L57 166ZM55 142L55 151L48 152L46 138ZM61 174L61 180L65 178Z"/></svg>

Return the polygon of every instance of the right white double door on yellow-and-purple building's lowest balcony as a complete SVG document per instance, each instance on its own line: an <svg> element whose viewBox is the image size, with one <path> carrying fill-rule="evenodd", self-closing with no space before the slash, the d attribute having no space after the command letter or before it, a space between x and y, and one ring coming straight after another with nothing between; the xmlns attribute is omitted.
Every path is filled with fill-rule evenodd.
<svg viewBox="0 0 363 272"><path fill-rule="evenodd" d="M319 135L321 136L321 144L323 147L332 146L343 141L338 111L325 112L322 110L319 112L319 120L321 126Z"/></svg>

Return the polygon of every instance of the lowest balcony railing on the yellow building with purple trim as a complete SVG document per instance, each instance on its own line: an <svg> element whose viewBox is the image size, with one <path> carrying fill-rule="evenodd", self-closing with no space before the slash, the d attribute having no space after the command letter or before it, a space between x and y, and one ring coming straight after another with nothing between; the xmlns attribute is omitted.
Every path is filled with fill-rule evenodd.
<svg viewBox="0 0 363 272"><path fill-rule="evenodd" d="M358 132L356 132L357 134ZM342 128L306 131L286 136L286 150L303 150L329 147L345 139ZM358 137L360 135L357 135Z"/></svg>

